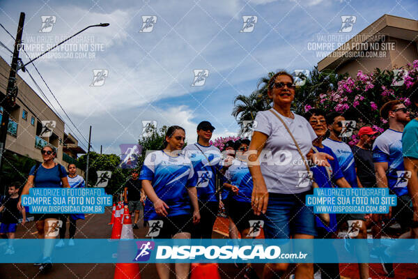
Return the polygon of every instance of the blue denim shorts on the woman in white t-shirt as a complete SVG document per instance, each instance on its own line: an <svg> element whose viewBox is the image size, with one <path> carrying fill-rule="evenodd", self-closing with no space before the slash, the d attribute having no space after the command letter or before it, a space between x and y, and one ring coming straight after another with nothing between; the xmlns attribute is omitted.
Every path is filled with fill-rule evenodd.
<svg viewBox="0 0 418 279"><path fill-rule="evenodd" d="M300 194L269 193L264 214L266 239L289 239L294 234L316 236L315 215L312 206L305 205L309 190Z"/></svg>

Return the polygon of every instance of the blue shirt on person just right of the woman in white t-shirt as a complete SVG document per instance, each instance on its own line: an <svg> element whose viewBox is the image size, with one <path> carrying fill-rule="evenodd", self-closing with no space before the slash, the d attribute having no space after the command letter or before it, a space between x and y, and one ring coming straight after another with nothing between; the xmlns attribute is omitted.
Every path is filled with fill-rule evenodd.
<svg viewBox="0 0 418 279"><path fill-rule="evenodd" d="M341 177L344 177L343 172L341 172L341 167L339 166L338 160L336 159L336 155L334 152L332 152L330 147L314 147L318 149L318 152L327 153L335 158L334 160L328 160L328 163L331 165L331 167L328 168L330 175L328 175L327 168L325 167L320 167L317 165L311 167L311 172L314 175L314 180L318 184L319 188L333 188L336 181L341 179ZM336 214L330 213L330 225L324 225L320 218L316 216L316 226L325 228L327 232L336 232L336 229L338 229L338 224L336 223Z"/></svg>

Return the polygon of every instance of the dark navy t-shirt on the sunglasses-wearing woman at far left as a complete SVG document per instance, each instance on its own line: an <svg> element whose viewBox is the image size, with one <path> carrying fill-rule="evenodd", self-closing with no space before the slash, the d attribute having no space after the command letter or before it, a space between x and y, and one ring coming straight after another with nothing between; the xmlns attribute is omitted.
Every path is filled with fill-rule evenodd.
<svg viewBox="0 0 418 279"><path fill-rule="evenodd" d="M61 175L59 174L58 167L61 167ZM35 175L35 168L34 165L29 172L29 175ZM46 169L45 167L39 165L38 171L36 172L36 177L34 181L34 187L36 188L61 188L61 179L67 176L67 171L65 167L62 165L57 164L55 167L51 169Z"/></svg>

